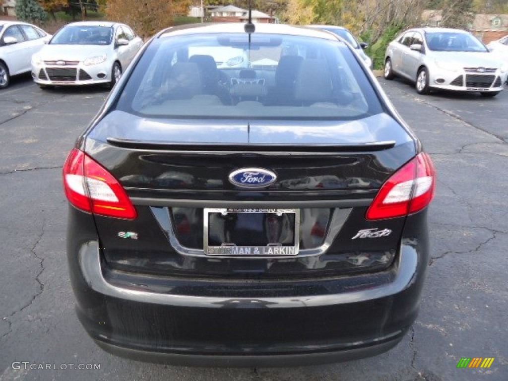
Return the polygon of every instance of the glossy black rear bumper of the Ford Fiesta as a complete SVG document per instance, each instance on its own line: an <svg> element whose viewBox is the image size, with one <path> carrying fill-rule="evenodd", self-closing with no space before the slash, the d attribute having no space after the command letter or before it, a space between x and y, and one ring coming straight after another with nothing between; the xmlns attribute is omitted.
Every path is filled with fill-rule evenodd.
<svg viewBox="0 0 508 381"><path fill-rule="evenodd" d="M150 277L122 283L100 255L93 218L72 214L68 258L77 314L88 334L119 356L241 367L346 361L388 351L418 313L426 211L408 217L390 269L289 284Z"/></svg>

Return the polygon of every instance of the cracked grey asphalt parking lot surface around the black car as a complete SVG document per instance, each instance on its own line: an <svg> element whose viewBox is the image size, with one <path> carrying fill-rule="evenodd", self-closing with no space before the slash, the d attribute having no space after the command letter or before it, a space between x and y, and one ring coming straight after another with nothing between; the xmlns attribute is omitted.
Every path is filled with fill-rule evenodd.
<svg viewBox="0 0 508 381"><path fill-rule="evenodd" d="M85 334L68 277L60 176L108 91L48 91L15 79L0 91L0 381L508 379L508 91L492 99L419 96L404 81L379 81L438 173L432 258L416 323L392 351L370 359L224 369L120 359ZM464 357L494 361L486 369L457 368ZM71 369L80 364L85 369Z"/></svg>

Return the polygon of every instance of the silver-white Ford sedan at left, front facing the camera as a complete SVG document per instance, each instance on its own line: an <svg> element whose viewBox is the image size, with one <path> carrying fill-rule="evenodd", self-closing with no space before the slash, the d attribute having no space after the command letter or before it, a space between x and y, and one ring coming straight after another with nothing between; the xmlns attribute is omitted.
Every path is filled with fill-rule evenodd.
<svg viewBox="0 0 508 381"><path fill-rule="evenodd" d="M143 40L125 24L74 22L58 30L31 59L31 74L42 88L55 85L111 87L129 66Z"/></svg>

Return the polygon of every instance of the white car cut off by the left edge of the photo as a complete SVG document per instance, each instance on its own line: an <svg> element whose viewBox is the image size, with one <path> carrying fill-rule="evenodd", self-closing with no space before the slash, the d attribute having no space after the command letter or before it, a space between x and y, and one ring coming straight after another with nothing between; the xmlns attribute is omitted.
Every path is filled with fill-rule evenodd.
<svg viewBox="0 0 508 381"><path fill-rule="evenodd" d="M30 57L50 38L35 25L0 20L0 89L9 86L12 76L30 71Z"/></svg>

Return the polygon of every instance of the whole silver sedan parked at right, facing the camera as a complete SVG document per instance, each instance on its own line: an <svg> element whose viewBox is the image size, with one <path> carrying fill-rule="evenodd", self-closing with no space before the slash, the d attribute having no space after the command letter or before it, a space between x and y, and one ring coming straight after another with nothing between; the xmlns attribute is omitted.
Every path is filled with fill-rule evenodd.
<svg viewBox="0 0 508 381"><path fill-rule="evenodd" d="M460 29L409 29L388 45L385 54L385 78L407 78L421 94L443 89L494 97L503 89L507 72L508 63Z"/></svg>

